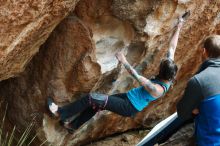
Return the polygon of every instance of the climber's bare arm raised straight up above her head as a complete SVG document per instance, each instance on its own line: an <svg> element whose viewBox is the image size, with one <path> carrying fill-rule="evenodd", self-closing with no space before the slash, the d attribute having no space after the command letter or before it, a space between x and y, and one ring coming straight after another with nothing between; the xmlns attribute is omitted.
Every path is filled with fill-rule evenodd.
<svg viewBox="0 0 220 146"><path fill-rule="evenodd" d="M174 60L174 54L176 51L176 46L177 46L177 42L178 42L179 34L180 34L180 29L182 28L182 25L183 25L183 21L179 21L178 25L176 26L176 30L173 33L173 36L172 36L170 43L169 43L167 58L170 58L171 60Z"/></svg>

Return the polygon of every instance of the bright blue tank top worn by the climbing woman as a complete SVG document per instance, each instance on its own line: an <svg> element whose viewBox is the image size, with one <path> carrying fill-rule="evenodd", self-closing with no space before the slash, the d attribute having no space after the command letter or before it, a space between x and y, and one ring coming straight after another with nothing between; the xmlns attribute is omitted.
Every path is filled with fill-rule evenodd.
<svg viewBox="0 0 220 146"><path fill-rule="evenodd" d="M164 88L164 93L167 92L170 88L170 83L165 84L156 79L151 81L160 84ZM133 88L129 90L127 93L127 97L138 111L142 111L151 101L156 99L155 97L150 95L150 93L147 92L144 86L140 86L138 88Z"/></svg>

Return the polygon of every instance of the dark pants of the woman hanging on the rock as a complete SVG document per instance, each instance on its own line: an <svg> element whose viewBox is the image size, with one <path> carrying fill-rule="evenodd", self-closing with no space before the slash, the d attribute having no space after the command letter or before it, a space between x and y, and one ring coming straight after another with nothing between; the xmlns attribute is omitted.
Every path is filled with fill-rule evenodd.
<svg viewBox="0 0 220 146"><path fill-rule="evenodd" d="M99 105L100 101L93 100L93 103ZM112 111L125 117L134 116L138 112L138 110L131 104L126 93L109 96L105 110ZM58 108L58 113L60 114L61 121L63 122L66 119L80 113L80 115L73 121L73 127L75 128L78 128L92 118L96 112L97 110L92 108L89 95Z"/></svg>

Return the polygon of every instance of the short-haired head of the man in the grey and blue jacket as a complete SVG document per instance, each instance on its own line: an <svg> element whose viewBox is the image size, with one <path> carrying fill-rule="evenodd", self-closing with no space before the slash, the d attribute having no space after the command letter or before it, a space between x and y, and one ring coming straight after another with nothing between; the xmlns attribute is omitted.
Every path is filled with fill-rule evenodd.
<svg viewBox="0 0 220 146"><path fill-rule="evenodd" d="M220 57L220 35L208 36L204 41L204 48L207 51L208 57Z"/></svg>

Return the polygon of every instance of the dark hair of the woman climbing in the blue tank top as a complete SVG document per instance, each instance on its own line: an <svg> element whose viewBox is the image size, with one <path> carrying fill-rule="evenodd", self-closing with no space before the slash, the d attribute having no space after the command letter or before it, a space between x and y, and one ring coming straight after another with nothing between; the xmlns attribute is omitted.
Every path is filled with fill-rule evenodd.
<svg viewBox="0 0 220 146"><path fill-rule="evenodd" d="M172 59L163 59L160 63L160 70L157 77L163 80L172 81L175 79L178 67Z"/></svg>

